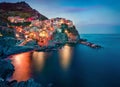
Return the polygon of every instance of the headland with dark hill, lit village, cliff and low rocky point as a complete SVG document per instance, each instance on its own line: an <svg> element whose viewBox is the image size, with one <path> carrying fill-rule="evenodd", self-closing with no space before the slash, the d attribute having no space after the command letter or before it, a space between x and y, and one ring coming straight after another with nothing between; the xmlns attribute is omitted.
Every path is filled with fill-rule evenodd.
<svg viewBox="0 0 120 87"><path fill-rule="evenodd" d="M71 20L60 17L48 19L24 1L0 3L0 37L13 37L19 41L16 44L19 46L28 43L32 43L29 46L40 47L80 43L92 48L100 47L81 39Z"/></svg>

